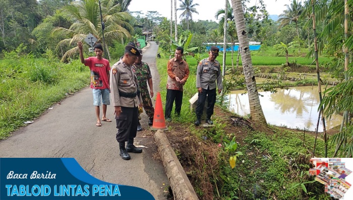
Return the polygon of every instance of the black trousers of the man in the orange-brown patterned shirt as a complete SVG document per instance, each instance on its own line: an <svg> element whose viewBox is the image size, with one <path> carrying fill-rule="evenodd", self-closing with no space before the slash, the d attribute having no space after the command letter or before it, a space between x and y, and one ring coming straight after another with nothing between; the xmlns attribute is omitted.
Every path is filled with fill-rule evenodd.
<svg viewBox="0 0 353 200"><path fill-rule="evenodd" d="M175 114L180 115L182 111L183 103L183 91L176 89L167 89L167 96L165 101L165 118L170 118L171 109L173 108L173 103L175 101Z"/></svg>

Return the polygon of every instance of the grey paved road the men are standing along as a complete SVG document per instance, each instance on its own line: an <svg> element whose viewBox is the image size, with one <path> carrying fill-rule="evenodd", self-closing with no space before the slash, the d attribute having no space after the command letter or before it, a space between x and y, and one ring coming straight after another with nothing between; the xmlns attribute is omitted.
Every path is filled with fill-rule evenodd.
<svg viewBox="0 0 353 200"><path fill-rule="evenodd" d="M159 88L155 60L158 46L154 42L150 44L143 61L151 67L156 94ZM113 119L112 106L107 108L107 117ZM142 126L147 128L146 114L142 118ZM64 99L61 105L54 105L33 124L0 141L0 157L73 157L98 179L140 187L156 199L166 199L164 189L169 183L162 164L152 159L155 153L153 137L144 138L138 132L135 144L148 148L141 154L132 153L131 160L125 161L119 156L115 121L102 122L102 127L95 124L92 89L87 87Z"/></svg>

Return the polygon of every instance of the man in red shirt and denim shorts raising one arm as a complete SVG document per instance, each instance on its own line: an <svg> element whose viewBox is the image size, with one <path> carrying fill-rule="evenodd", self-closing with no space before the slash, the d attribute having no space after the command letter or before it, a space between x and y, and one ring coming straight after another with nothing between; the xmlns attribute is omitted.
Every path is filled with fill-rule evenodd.
<svg viewBox="0 0 353 200"><path fill-rule="evenodd" d="M103 54L103 47L101 44L95 44L93 46L94 53L96 54L95 57L89 57L85 59L83 57L83 44L82 42L78 42L77 46L79 47L80 51L80 60L83 64L89 67L91 70L91 88L93 91L93 105L95 106L96 111L96 118L97 118L97 127L101 127L101 121L111 122L108 118L106 118L106 108L107 105L110 105L109 101L109 71L110 65L107 59L102 57ZM102 98L103 103L103 115L102 120L100 120L100 99Z"/></svg>

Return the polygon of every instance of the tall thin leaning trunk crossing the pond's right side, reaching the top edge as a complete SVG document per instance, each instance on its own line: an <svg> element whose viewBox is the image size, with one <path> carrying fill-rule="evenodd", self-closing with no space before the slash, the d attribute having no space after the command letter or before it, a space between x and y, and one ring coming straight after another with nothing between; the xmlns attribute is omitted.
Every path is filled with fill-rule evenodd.
<svg viewBox="0 0 353 200"><path fill-rule="evenodd" d="M320 104L321 104L322 95L321 95L321 81L320 81L318 43L317 43L317 36L316 36L315 0L311 0L311 7L312 7L312 17L313 17L313 32L314 32L314 48L315 48L316 73L317 73L317 78L318 78L319 99L320 99ZM321 113L322 111L323 111L323 107L320 108L320 112L319 113ZM323 127L323 131L324 131L325 157L327 158L327 135L326 135L325 118L324 118L323 115L322 115L322 127ZM318 130L316 130L316 131L318 131Z"/></svg>

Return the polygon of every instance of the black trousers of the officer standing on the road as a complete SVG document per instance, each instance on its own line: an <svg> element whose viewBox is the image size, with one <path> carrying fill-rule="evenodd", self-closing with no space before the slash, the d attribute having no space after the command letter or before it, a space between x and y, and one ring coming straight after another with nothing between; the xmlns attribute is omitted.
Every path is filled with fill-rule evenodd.
<svg viewBox="0 0 353 200"><path fill-rule="evenodd" d="M139 111L138 108L121 107L122 113L116 119L116 141L127 142L129 139L134 139L137 133L137 123Z"/></svg>

